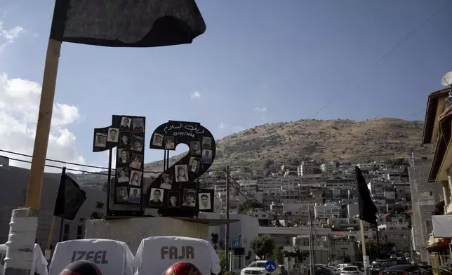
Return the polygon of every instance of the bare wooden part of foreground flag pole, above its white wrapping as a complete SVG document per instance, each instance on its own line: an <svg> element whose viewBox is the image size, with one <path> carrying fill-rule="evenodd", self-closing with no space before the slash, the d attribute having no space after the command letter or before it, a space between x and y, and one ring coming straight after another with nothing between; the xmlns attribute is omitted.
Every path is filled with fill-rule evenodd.
<svg viewBox="0 0 452 275"><path fill-rule="evenodd" d="M25 207L32 208L33 210L39 210L39 204L41 203L42 182L46 165L48 135L51 130L53 100L55 98L60 50L60 41L48 39L41 101L39 102L36 135L34 137L32 167L29 172L27 200L25 201Z"/></svg>

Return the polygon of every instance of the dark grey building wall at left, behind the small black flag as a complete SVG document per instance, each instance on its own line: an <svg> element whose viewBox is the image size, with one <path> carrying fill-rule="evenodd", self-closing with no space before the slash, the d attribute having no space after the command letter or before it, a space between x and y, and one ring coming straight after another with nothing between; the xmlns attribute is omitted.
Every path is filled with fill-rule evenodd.
<svg viewBox="0 0 452 275"><path fill-rule="evenodd" d="M68 175L70 175L68 173ZM24 206L27 192L29 170L10 166L8 168L0 167L0 243L8 240L9 222L11 220L11 210ZM41 196L41 206L39 209L38 230L36 239L39 246L44 250L48 239L48 231L53 217L53 208L55 205L58 187L60 185L59 173L45 173L44 185ZM74 177L73 177L74 178ZM106 193L98 189L85 189L86 201L81 206L77 217L73 221L66 220L69 224L69 239L77 238L77 227L84 227L85 220L88 220L91 213L95 211L95 202L105 203ZM55 220L55 229L53 232L53 246L58 242L60 232L60 218ZM82 232L84 232L82 228Z"/></svg>

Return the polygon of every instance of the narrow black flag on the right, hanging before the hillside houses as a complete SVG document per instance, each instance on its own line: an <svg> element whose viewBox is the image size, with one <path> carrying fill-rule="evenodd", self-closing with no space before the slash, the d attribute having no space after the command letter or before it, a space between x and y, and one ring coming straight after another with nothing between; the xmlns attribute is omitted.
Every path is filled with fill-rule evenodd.
<svg viewBox="0 0 452 275"><path fill-rule="evenodd" d="M359 219L370 224L377 224L377 216L375 214L378 213L378 209L373 204L371 192L368 191L366 180L358 166L354 168L354 176L357 181Z"/></svg>

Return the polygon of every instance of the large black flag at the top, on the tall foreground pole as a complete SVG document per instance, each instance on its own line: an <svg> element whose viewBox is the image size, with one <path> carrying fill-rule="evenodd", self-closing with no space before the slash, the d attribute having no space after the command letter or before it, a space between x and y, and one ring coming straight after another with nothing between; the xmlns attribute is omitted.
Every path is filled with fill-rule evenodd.
<svg viewBox="0 0 452 275"><path fill-rule="evenodd" d="M94 46L192 43L206 31L194 0L55 0L51 39Z"/></svg>

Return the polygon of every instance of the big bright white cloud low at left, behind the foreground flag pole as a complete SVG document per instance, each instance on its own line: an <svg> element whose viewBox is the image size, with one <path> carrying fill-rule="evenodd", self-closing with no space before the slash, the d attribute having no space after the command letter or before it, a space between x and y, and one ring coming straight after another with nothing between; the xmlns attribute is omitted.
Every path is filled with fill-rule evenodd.
<svg viewBox="0 0 452 275"><path fill-rule="evenodd" d="M0 149L31 155L36 133L36 121L39 111L41 85L26 79L8 79L7 74L0 74ZM48 140L47 158L86 163L75 149L77 137L67 127L80 119L79 109L75 106L55 103L53 105L51 133ZM13 154L0 155L15 159L31 159ZM62 163L49 163L63 166ZM12 166L29 168L29 164L11 161ZM65 165L67 168L92 170L79 166ZM46 168L49 172L59 169ZM69 170L68 170L69 172Z"/></svg>

